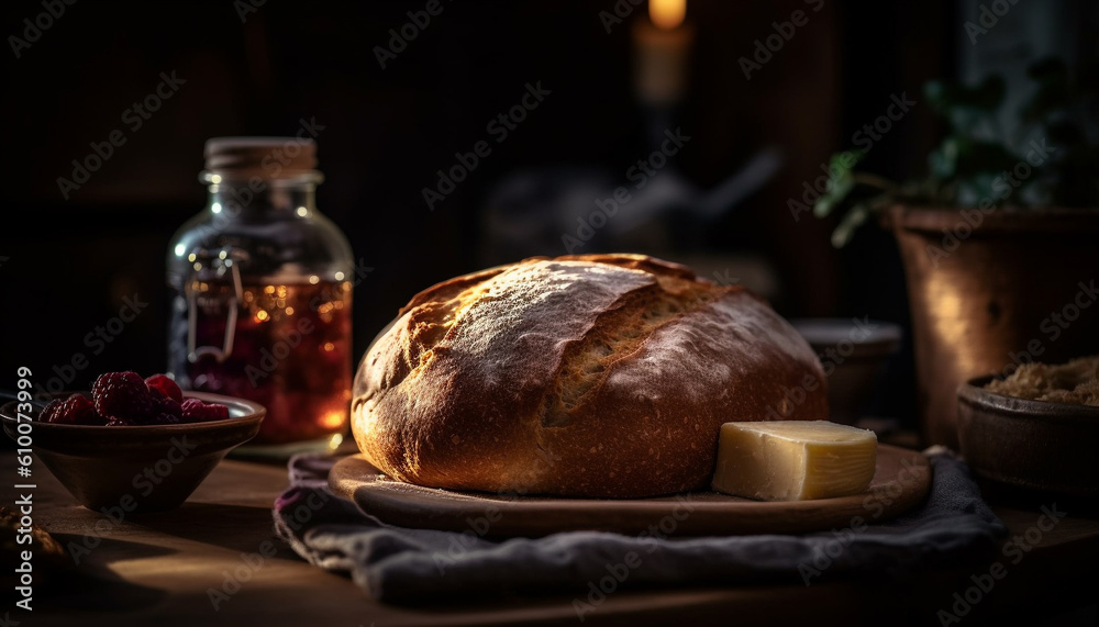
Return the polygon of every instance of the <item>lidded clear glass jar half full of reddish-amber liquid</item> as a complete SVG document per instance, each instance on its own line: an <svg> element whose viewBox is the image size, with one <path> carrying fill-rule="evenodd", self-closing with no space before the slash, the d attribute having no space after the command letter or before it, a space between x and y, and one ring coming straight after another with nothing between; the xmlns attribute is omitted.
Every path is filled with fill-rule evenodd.
<svg viewBox="0 0 1099 627"><path fill-rule="evenodd" d="M267 408L240 450L331 450L349 422L354 258L317 210L317 145L217 137L206 209L168 246L168 373Z"/></svg>

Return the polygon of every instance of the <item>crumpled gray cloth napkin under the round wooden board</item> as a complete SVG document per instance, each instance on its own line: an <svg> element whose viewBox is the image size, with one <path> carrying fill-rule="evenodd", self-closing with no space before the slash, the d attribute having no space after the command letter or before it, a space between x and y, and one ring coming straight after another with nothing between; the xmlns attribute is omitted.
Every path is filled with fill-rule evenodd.
<svg viewBox="0 0 1099 627"><path fill-rule="evenodd" d="M891 520L806 535L676 538L570 531L489 539L465 533L388 525L333 495L335 459L290 460L290 488L276 501L278 536L309 562L349 573L371 597L425 597L571 591L578 613L615 590L685 583L800 583L840 576L904 576L986 557L1007 529L981 500L966 464L929 449L931 492Z"/></svg>

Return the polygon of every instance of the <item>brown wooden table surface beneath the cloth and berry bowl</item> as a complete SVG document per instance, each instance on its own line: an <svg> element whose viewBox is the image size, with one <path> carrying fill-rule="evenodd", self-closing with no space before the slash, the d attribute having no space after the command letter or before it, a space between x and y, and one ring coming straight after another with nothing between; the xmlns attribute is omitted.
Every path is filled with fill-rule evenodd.
<svg viewBox="0 0 1099 627"><path fill-rule="evenodd" d="M3 451L4 477L14 477L14 458L13 450ZM35 522L66 546L82 541L89 530L103 539L84 556L79 576L36 585L33 614L8 601L0 618L9 611L11 619L27 626L282 625L297 619L348 627L579 624L575 593L519 597L490 592L463 603L425 598L415 607L371 601L349 578L310 566L274 537L270 507L288 483L281 466L225 460L179 510L132 515L110 524L106 534L92 529L97 523L106 527L103 515L77 505L44 467L36 468ZM2 503L11 506L15 499L5 489ZM1035 538L1037 506L993 505L1011 536L1025 537L1030 529ZM963 625L1004 618L1013 624L1047 618L1067 620L1051 625L1096 624L1099 515L1077 513L1059 502L1058 507L1068 516L1042 533L1018 563L1000 557L1008 563L1004 576L981 593L961 617ZM256 568L244 566L242 555L267 546L275 550L270 558ZM587 614L584 624L940 625L937 612L953 612L954 593L964 595L975 585L972 578L988 573L991 563L955 564L909 581L623 589ZM215 609L208 590L222 587L225 573L234 571L247 573L246 581Z"/></svg>

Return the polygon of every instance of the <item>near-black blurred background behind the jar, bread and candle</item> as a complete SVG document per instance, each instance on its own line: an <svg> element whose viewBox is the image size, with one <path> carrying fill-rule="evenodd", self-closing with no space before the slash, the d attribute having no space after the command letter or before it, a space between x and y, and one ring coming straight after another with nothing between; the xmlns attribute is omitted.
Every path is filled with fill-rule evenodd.
<svg viewBox="0 0 1099 627"><path fill-rule="evenodd" d="M869 316L907 331L903 275L888 233L864 228L836 250L829 244L834 220L795 222L787 200L801 195L802 182L820 175L832 152L852 147L852 134L882 114L891 96L919 101L930 78L969 76L981 63L1021 63L1068 37L1066 24L1088 33L1095 10L1087 2L1021 2L980 42L992 51L980 57L963 27L977 2L825 0L817 13L813 4L689 0L696 37L678 123L692 138L675 168L702 190L767 146L785 155L781 168L715 222L688 229L691 237L669 226L671 236L648 249L603 240L577 251L631 245L676 260L704 258L788 317ZM599 12L613 11L610 0L444 0L443 12L379 67L374 47L387 45L388 31L423 5L273 0L242 22L230 0L85 0L66 7L20 58L9 41L0 104L7 123L0 387L14 380L16 366L32 367L44 381L74 352L88 354L85 334L134 293L149 306L107 350L89 355L73 387L106 370L164 370L165 256L175 229L204 205L197 176L213 136L292 134L302 117L324 125L318 143L326 181L318 208L346 233L356 258L375 268L355 290L356 356L433 282L523 256L565 254L559 236L502 240L492 227L493 199L530 171L582 166L611 187L626 182L626 168L646 153L629 23L606 32ZM737 59L796 9L807 10L808 23L745 80ZM40 2L4 3L4 35L22 36L23 19L42 11ZM626 22L645 14L642 3ZM1035 15L1052 15L1053 26L1035 35L1028 26ZM1014 37L1015 47L995 52L997 37ZM89 142L125 128L122 112L173 70L186 80L178 93L140 131L126 130L126 144L64 200L56 179L70 176L71 159L87 155ZM435 171L487 138L486 123L536 81L552 94L429 211L421 190L435 183ZM918 104L874 145L866 167L895 178L917 175L940 131ZM568 213L566 224L593 209L592 194L574 195L553 210ZM912 421L907 337L873 411Z"/></svg>

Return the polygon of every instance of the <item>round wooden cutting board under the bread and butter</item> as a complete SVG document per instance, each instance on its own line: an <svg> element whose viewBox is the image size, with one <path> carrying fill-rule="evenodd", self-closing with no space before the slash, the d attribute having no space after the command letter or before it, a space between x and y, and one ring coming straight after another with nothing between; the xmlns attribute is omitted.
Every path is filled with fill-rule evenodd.
<svg viewBox="0 0 1099 627"><path fill-rule="evenodd" d="M479 536L537 537L576 530L636 535L652 533L654 525L676 536L800 534L873 525L912 510L928 495L931 466L919 451L878 445L877 469L864 494L785 502L717 492L629 500L458 492L393 481L362 455L337 461L329 485L384 523Z"/></svg>

